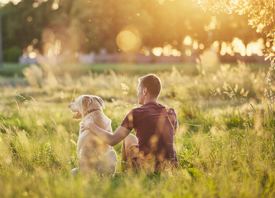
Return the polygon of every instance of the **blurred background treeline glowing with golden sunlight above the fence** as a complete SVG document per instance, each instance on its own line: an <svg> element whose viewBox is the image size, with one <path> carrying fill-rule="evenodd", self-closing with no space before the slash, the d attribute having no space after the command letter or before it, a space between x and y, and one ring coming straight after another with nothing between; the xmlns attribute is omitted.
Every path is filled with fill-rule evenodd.
<svg viewBox="0 0 275 198"><path fill-rule="evenodd" d="M269 1L252 6L254 13L249 9L258 1L244 1L245 9L242 2L233 5L228 1L229 6L220 3L223 10L216 4L194 0L1 2L6 62L17 62L22 55L34 59L57 54L69 62L90 52L174 56L194 62L207 50L222 62L262 61L255 56L263 56L272 43L272 35L265 31L272 29L268 27L272 25L272 13L264 7ZM256 12L262 14L265 29L259 29L261 21L253 21Z"/></svg>

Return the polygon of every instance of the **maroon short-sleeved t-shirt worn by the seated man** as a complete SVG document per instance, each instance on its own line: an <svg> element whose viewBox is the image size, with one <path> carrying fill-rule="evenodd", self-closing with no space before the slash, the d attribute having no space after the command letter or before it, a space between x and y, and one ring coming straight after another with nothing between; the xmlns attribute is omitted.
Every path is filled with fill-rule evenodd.
<svg viewBox="0 0 275 198"><path fill-rule="evenodd" d="M123 119L121 126L130 131L134 128L136 131L139 154L142 153L146 159L154 157L155 165L165 160L175 165L178 159L173 144L174 128L177 123L174 109L149 102L132 109Z"/></svg>

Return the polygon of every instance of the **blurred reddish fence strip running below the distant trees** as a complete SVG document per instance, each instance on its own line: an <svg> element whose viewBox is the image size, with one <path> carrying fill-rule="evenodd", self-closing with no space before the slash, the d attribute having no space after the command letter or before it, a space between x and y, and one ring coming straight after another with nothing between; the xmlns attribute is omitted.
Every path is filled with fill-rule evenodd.
<svg viewBox="0 0 275 198"><path fill-rule="evenodd" d="M82 54L79 53L77 56L65 56L65 55L58 55L53 56L51 58L45 56L38 56L37 58L31 59L29 57L19 57L20 64L30 64L30 63L72 63L72 62L79 62L79 63L139 63L139 64L149 64L149 63L196 63L196 59L199 58L199 55L192 54L191 56L155 56L152 53L149 56L145 56L143 54L125 54L125 53L103 53L103 54L95 54L91 52L90 54ZM237 60L245 61L245 62L265 62L263 56L244 56L242 57L239 54L235 56L225 55L220 56L218 55L218 60L220 62L236 62Z"/></svg>

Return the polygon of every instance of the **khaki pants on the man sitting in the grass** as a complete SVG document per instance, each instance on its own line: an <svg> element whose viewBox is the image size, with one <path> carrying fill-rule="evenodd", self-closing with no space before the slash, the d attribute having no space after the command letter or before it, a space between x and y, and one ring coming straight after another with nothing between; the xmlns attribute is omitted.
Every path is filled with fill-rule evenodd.
<svg viewBox="0 0 275 198"><path fill-rule="evenodd" d="M139 146L138 139L136 138L136 136L134 136L131 133L127 137L125 137L125 139L123 140L122 147L121 147L121 164L120 164L123 171L129 168L129 166L132 170L138 170L140 169L140 167L142 167L143 169L146 169L147 171L151 170L152 167L149 167L148 163L142 163L143 160L140 160L140 158L142 159L142 156L139 156L139 160L138 160L138 155L139 155L138 146ZM175 151L175 155L177 156L175 145L174 145L174 151Z"/></svg>

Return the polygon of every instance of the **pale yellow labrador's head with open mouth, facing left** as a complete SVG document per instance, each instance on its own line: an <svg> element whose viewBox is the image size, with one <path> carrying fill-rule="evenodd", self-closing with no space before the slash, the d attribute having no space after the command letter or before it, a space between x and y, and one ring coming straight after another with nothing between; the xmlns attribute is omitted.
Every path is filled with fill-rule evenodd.
<svg viewBox="0 0 275 198"><path fill-rule="evenodd" d="M69 104L69 109L72 112L77 112L77 114L72 117L76 120L84 118L85 114L89 111L102 111L101 107L105 109L103 100L100 97L91 95L79 96L79 98L76 99L75 102Z"/></svg>

